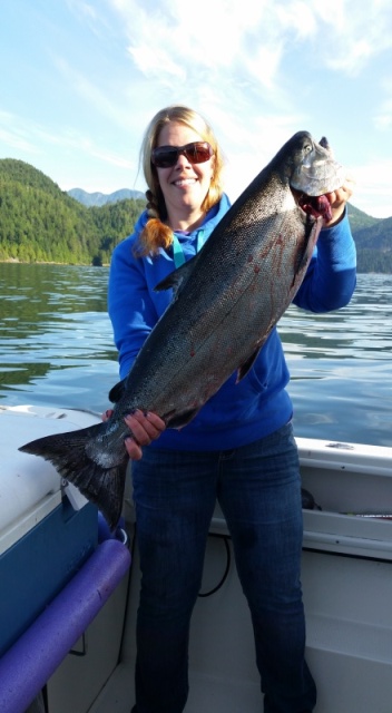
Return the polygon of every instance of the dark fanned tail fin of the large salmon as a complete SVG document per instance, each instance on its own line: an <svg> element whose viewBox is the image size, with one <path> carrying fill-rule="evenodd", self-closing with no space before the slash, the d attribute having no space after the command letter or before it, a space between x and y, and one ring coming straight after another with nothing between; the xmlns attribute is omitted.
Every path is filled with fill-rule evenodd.
<svg viewBox="0 0 392 713"><path fill-rule="evenodd" d="M105 467L89 455L91 439L102 431L102 423L89 428L46 436L19 448L24 453L49 460L59 475L72 482L105 516L110 529L115 529L121 515L127 453L115 465Z"/></svg>

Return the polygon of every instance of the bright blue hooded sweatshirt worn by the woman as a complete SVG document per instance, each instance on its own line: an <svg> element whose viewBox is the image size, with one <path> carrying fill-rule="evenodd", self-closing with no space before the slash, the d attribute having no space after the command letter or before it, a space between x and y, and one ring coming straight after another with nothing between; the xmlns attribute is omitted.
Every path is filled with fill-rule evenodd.
<svg viewBox="0 0 392 713"><path fill-rule="evenodd" d="M176 236L185 260L190 260L229 208L224 195L206 215L203 225ZM173 291L154 287L175 270L174 250L136 257L134 246L147 221L139 217L133 235L112 253L108 310L119 352L124 379L143 343L171 301ZM347 216L321 231L304 281L294 299L300 307L329 312L346 305L355 287L355 246ZM151 447L176 450L225 450L251 443L281 428L292 418L293 407L285 387L290 374L282 343L273 329L253 368L236 383L236 373L220 387L195 419L180 430L167 429Z"/></svg>

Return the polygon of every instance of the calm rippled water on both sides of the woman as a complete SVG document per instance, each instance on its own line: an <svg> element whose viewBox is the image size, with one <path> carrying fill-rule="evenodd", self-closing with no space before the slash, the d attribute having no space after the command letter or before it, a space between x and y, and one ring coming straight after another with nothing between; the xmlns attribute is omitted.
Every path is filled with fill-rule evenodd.
<svg viewBox="0 0 392 713"><path fill-rule="evenodd" d="M118 380L108 270L0 263L0 404L97 412ZM359 275L351 304L290 307L278 331L297 436L392 446L392 275Z"/></svg>

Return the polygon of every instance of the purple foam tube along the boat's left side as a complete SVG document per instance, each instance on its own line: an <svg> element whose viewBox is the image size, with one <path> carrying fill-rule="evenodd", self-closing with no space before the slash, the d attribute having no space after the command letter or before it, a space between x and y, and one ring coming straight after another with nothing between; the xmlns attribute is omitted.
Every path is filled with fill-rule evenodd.
<svg viewBox="0 0 392 713"><path fill-rule="evenodd" d="M118 539L98 546L80 572L0 658L0 711L23 713L130 566Z"/></svg>

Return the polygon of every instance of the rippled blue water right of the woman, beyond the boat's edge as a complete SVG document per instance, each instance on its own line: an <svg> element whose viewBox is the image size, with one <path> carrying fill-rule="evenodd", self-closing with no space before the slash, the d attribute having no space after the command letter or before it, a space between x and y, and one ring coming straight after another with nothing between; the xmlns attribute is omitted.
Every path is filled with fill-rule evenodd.
<svg viewBox="0 0 392 713"><path fill-rule="evenodd" d="M359 275L347 307L281 322L296 433L392 446L392 276Z"/></svg>

